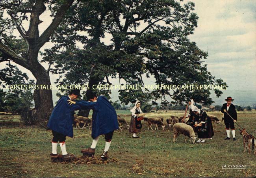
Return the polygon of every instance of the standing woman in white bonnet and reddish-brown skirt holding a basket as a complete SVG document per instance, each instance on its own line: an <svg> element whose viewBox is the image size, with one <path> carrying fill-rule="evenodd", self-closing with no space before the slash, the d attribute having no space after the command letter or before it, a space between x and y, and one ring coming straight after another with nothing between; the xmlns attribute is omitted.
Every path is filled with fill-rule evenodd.
<svg viewBox="0 0 256 178"><path fill-rule="evenodd" d="M132 138L139 138L137 133L141 131L141 120L143 120L143 114L141 114L141 102L137 100L135 102L135 106L130 111L132 112L132 117L130 121L129 132L133 133Z"/></svg>

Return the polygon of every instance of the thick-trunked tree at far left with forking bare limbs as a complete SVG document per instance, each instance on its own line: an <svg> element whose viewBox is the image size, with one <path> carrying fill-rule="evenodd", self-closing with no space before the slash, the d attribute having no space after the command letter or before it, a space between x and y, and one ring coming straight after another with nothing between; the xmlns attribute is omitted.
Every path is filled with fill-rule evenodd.
<svg viewBox="0 0 256 178"><path fill-rule="evenodd" d="M31 71L37 85L49 86L51 84L49 70L39 62L39 50L50 40L50 36L73 2L74 0L1 0L0 62L15 62ZM39 24L43 22L40 20L40 15L46 11L47 7L54 9L53 20L39 35ZM29 27L24 29L23 26L28 20ZM13 35L15 30L19 32L19 37ZM35 90L33 98L37 111L35 117L39 123L47 119L52 111L52 91Z"/></svg>

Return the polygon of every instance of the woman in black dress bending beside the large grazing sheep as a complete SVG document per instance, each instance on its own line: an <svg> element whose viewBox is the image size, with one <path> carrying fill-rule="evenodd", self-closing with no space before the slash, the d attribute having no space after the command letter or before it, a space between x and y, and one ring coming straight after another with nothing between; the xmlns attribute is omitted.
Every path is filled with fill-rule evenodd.
<svg viewBox="0 0 256 178"><path fill-rule="evenodd" d="M212 139L214 135L211 119L208 117L205 111L200 110L199 124L196 124L198 140L197 142L204 143L206 139Z"/></svg>

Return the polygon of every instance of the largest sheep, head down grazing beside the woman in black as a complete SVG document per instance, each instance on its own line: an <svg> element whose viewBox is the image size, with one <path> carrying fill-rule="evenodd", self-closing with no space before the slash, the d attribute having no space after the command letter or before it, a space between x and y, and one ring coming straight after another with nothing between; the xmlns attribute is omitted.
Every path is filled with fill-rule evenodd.
<svg viewBox="0 0 256 178"><path fill-rule="evenodd" d="M185 135L185 143L187 142L187 137L189 137L189 141L195 144L196 141L196 135L193 130L193 128L190 125L187 125L185 123L176 123L173 125L173 142L177 140L177 137L180 133Z"/></svg>

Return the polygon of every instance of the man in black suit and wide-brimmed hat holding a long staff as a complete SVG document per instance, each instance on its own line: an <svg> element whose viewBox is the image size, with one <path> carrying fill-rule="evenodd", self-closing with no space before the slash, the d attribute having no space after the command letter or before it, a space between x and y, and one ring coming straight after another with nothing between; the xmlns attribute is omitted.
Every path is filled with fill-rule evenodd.
<svg viewBox="0 0 256 178"><path fill-rule="evenodd" d="M227 137L224 140L230 140L230 129L233 135L233 140L236 140L234 122L236 122L237 120L237 113L235 105L232 104L232 101L234 101L234 99L232 99L231 96L228 96L225 100L226 103L223 104L221 108L221 113L224 113L224 124L226 125L227 133Z"/></svg>

